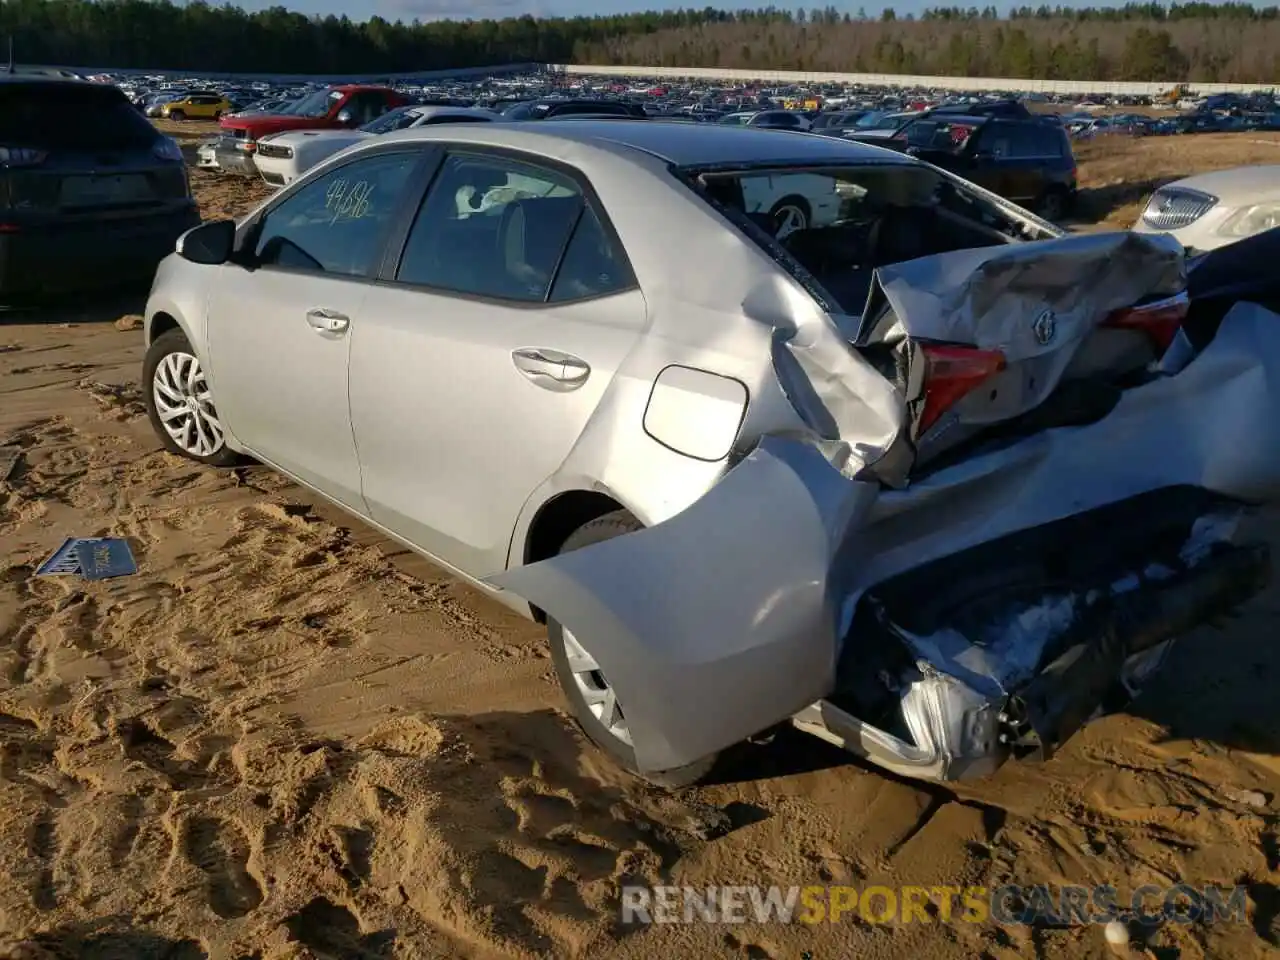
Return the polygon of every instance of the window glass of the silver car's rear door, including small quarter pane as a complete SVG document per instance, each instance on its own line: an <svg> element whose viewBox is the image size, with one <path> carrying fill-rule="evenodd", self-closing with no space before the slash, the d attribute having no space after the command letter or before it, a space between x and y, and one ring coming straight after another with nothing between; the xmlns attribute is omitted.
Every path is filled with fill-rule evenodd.
<svg viewBox="0 0 1280 960"><path fill-rule="evenodd" d="M428 191L396 279L524 303L581 300L628 283L625 260L572 178L466 152L451 154Z"/></svg>

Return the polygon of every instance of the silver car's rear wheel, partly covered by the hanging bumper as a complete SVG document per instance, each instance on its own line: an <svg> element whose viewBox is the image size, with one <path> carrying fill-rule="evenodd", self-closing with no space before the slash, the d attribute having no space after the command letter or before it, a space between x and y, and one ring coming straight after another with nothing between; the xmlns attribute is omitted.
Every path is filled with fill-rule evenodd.
<svg viewBox="0 0 1280 960"><path fill-rule="evenodd" d="M643 524L627 511L614 511L580 526L570 534L559 552L568 553L641 529ZM717 760L714 754L687 767L641 773L636 764L626 705L618 699L617 691L591 653L590 637L579 636L548 617L547 639L556 666L556 677L564 691L573 718L591 742L614 763L652 783L672 788L690 786L710 773Z"/></svg>

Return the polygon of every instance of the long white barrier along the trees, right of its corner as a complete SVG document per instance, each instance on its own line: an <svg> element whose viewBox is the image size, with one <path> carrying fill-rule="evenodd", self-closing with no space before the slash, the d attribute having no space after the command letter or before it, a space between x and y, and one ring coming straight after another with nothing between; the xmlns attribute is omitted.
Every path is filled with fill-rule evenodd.
<svg viewBox="0 0 1280 960"><path fill-rule="evenodd" d="M1000 91L1019 93L1107 93L1156 96L1176 86L1192 93L1252 93L1274 91L1275 83L1133 83L1128 81L1042 81L1009 77L909 77L895 73L810 73L805 70L728 70L717 67L602 67L593 64L553 64L550 69L567 76L654 77L666 79L733 79L764 83L847 83L867 87L909 87L915 90Z"/></svg>

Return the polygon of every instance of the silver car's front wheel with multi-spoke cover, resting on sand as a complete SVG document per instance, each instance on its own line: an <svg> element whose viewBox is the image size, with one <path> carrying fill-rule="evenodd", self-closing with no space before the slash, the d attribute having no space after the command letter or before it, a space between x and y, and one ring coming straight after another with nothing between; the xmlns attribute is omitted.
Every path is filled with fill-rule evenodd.
<svg viewBox="0 0 1280 960"><path fill-rule="evenodd" d="M227 445L205 369L182 330L156 337L142 364L142 387L147 417L165 449L215 467L239 462Z"/></svg>

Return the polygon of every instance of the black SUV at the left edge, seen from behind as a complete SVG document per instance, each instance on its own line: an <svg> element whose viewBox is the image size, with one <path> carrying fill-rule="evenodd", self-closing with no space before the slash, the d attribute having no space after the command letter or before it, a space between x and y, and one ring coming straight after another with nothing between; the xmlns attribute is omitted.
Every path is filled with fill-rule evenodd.
<svg viewBox="0 0 1280 960"><path fill-rule="evenodd" d="M118 87L0 74L0 305L148 280L198 223L182 150Z"/></svg>

